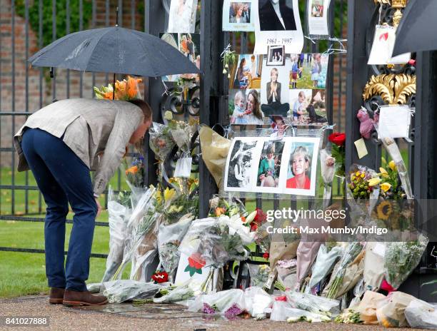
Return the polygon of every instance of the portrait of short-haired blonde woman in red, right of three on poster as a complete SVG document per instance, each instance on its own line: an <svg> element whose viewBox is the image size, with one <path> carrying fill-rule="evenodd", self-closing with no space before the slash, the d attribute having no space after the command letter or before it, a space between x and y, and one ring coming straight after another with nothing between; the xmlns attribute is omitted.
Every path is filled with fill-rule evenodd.
<svg viewBox="0 0 437 331"><path fill-rule="evenodd" d="M287 138L282 167L285 190L292 195L316 195L317 158L320 138ZM282 179L282 178L281 178Z"/></svg>

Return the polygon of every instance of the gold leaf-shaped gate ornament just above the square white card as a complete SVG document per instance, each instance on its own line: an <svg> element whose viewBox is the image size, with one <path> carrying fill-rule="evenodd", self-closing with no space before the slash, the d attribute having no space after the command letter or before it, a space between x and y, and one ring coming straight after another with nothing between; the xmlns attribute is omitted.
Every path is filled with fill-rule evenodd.
<svg viewBox="0 0 437 331"><path fill-rule="evenodd" d="M371 76L363 92L363 100L379 95L389 105L405 104L416 93L416 76L405 73Z"/></svg>

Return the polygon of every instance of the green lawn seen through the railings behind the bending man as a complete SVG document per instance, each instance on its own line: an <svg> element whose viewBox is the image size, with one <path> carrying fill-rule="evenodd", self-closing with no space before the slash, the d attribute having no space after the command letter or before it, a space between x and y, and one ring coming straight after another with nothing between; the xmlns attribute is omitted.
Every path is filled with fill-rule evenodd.
<svg viewBox="0 0 437 331"><path fill-rule="evenodd" d="M10 168L1 168L1 185L11 185L12 172ZM29 172L26 184L26 173L14 173L15 185L35 185L33 175ZM124 176L121 177L121 189L127 189ZM114 176L110 185L118 187L118 178ZM45 204L41 198L39 208L39 191L29 190L29 209L26 212L26 197L24 190L15 190L14 215L34 214L32 217L44 218ZM104 197L100 198L104 206ZM1 190L0 193L0 215L11 215L12 193L11 190ZM67 218L73 218L74 213L69 213ZM108 221L108 212L102 211L97 219L100 222ZM68 249L71 224L66 225L66 245ZM44 223L4 221L0 220L0 246L9 248L33 248L44 249ZM96 226L92 253L108 253L109 250L109 228ZM45 257L38 253L16 253L0 252L0 297L19 297L22 295L34 295L47 292ZM90 274L88 283L99 282L104 275L106 260L102 258L91 258ZM129 266L126 268L129 271ZM125 271L125 276L126 276Z"/></svg>

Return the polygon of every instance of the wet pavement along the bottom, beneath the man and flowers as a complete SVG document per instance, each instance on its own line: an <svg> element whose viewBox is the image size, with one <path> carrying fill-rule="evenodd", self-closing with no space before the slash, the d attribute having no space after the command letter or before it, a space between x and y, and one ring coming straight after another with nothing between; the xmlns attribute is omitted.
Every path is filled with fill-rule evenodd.
<svg viewBox="0 0 437 331"><path fill-rule="evenodd" d="M131 303L109 304L94 307L64 307L49 305L46 295L0 300L0 317L48 317L45 327L2 327L0 330L388 330L371 325L338 325L336 323L296 323L253 320L236 317L226 320L197 312L189 312L181 305L154 304L134 306ZM416 329L396 329L416 330Z"/></svg>

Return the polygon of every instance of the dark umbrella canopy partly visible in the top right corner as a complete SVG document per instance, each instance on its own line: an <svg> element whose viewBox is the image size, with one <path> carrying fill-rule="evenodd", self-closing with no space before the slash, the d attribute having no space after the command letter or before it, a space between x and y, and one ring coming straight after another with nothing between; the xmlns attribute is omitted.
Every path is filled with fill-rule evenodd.
<svg viewBox="0 0 437 331"><path fill-rule="evenodd" d="M437 49L437 1L409 0L396 30L393 56Z"/></svg>

